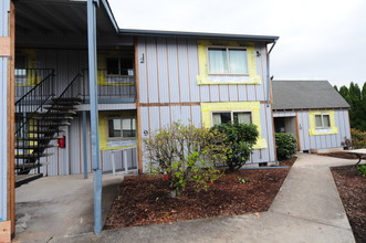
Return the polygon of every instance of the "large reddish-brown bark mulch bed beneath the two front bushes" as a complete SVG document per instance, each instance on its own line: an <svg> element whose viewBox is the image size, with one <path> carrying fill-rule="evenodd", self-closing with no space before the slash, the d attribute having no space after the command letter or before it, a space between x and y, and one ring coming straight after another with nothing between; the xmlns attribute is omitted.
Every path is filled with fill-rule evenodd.
<svg viewBox="0 0 366 243"><path fill-rule="evenodd" d="M179 198L168 196L168 182L163 177L126 177L105 229L263 212L269 210L289 171L290 168L230 172L207 192L196 193L188 188ZM242 178L248 182L240 182Z"/></svg>

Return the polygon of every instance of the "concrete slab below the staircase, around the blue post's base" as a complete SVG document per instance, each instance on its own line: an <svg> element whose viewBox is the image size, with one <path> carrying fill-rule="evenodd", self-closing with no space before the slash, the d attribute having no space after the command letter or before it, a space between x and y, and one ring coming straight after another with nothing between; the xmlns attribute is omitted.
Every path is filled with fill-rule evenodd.
<svg viewBox="0 0 366 243"><path fill-rule="evenodd" d="M123 176L103 175L103 220ZM13 242L49 242L55 236L94 231L93 175L44 177L15 190Z"/></svg>

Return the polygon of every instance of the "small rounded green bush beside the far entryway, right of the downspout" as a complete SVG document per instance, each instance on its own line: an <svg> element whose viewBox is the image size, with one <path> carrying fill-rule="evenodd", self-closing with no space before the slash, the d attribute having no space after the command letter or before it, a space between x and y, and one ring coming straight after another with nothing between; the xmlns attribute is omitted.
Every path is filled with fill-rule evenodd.
<svg viewBox="0 0 366 243"><path fill-rule="evenodd" d="M290 133L275 134L275 150L280 161L290 159L295 155L297 149L296 138Z"/></svg>

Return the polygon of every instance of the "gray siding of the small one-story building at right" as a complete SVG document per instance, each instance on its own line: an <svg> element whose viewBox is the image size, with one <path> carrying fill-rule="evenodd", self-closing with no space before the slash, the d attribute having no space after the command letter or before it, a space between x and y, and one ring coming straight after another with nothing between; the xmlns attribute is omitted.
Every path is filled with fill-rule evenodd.
<svg viewBox="0 0 366 243"><path fill-rule="evenodd" d="M299 122L299 137L301 142L301 150L310 149L330 149L341 148L341 142L345 138L351 138L348 110L335 109L334 118L335 126L338 128L338 134L332 135L315 135L309 134L309 112L275 112L274 117L297 116Z"/></svg>

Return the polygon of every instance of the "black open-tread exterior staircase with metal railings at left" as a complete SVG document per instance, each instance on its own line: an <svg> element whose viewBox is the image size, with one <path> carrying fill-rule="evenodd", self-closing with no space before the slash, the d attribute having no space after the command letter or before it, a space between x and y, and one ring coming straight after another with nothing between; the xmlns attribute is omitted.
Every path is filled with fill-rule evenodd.
<svg viewBox="0 0 366 243"><path fill-rule="evenodd" d="M59 96L55 96L51 91L49 91L49 95L32 95L35 92L40 93L36 89L41 88L42 85L45 86L45 82L53 82L44 80L15 103L17 176L34 173L35 179L42 177L40 168L46 162L41 163L41 158L52 155L48 152L49 148L56 146L52 141L61 138L60 133L64 131L62 128L70 126L70 122L76 115L75 106L82 103L82 96L73 88L73 84L77 83L75 81L80 76L77 74ZM46 98L40 99L40 97ZM29 177L27 178L29 181ZM20 184L22 182L17 181L15 186L19 187Z"/></svg>

